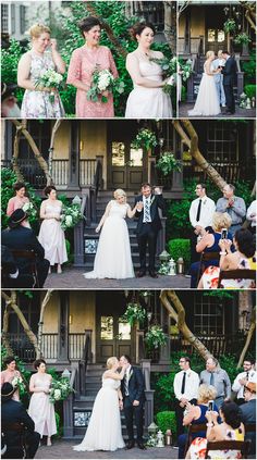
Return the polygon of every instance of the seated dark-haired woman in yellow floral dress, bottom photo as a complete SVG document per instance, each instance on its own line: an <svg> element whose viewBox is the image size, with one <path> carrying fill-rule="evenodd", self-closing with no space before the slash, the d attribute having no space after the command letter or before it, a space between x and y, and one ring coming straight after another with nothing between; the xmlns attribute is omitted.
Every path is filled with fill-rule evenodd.
<svg viewBox="0 0 257 460"><path fill-rule="evenodd" d="M207 411L206 438L196 437L186 453L186 459L205 459L207 442L244 440L245 428L242 422L240 407L235 402L224 401L220 408L221 423L218 423L218 412ZM209 450L210 459L236 459L241 453L236 450Z"/></svg>

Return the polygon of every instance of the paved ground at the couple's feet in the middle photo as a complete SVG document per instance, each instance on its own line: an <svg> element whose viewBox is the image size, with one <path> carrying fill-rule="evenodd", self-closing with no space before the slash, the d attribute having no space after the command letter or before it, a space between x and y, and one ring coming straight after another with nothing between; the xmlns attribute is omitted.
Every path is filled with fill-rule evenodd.
<svg viewBox="0 0 257 460"><path fill-rule="evenodd" d="M83 276L85 269L65 268L63 273L48 275L45 288L54 289L169 289L189 288L191 279L184 275L163 276L158 278L144 276L143 278L127 279L86 279Z"/></svg>

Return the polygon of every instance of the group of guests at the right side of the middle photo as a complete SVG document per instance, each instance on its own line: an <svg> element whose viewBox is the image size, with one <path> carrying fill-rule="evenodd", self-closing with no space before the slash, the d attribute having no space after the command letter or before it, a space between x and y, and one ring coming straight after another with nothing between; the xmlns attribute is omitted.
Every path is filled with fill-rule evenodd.
<svg viewBox="0 0 257 460"><path fill-rule="evenodd" d="M197 198L189 208L191 287L213 289L218 287L220 271L256 269L257 203L254 200L246 210L244 199L235 195L232 184L224 186L223 197L217 203L207 196L205 184L197 184L195 191ZM200 261L200 256L208 252L208 260ZM224 279L221 287L252 286L253 281L238 278Z"/></svg>

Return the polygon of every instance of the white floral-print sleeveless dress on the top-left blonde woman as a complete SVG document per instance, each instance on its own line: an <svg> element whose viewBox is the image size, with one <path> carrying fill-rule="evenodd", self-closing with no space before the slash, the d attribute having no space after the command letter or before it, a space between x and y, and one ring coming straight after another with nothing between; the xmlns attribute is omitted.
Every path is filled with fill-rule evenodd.
<svg viewBox="0 0 257 460"><path fill-rule="evenodd" d="M42 55L30 51L30 58L29 78L33 83L47 70L56 69L51 53L47 51ZM54 102L51 102L47 91L25 90L21 109L22 119L60 119L62 116L65 116L65 112L58 91L54 91Z"/></svg>

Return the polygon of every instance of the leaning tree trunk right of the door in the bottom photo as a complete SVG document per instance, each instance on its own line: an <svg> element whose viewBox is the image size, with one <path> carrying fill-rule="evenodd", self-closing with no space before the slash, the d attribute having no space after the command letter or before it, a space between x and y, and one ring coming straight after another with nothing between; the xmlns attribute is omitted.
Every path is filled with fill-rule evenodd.
<svg viewBox="0 0 257 460"><path fill-rule="evenodd" d="M194 347L194 349L206 361L208 358L213 358L211 352L205 345L193 334L185 322L185 308L181 303L174 290L162 290L160 295L161 303L168 310L169 314L176 322L179 331L183 334L184 338ZM171 304L171 302L172 304Z"/></svg>

